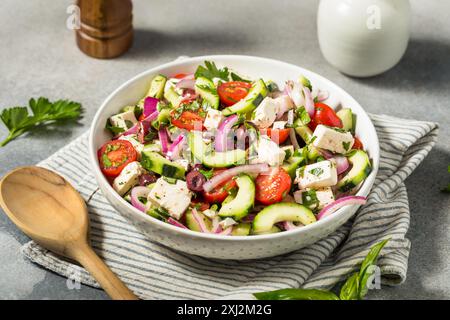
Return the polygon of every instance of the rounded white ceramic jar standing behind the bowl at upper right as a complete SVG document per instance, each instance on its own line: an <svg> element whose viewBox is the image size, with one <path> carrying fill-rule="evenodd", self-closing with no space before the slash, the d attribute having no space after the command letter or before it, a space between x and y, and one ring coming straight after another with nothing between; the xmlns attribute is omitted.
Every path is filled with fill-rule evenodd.
<svg viewBox="0 0 450 320"><path fill-rule="evenodd" d="M410 13L408 0L321 0L317 25L322 53L350 76L383 73L406 51Z"/></svg>

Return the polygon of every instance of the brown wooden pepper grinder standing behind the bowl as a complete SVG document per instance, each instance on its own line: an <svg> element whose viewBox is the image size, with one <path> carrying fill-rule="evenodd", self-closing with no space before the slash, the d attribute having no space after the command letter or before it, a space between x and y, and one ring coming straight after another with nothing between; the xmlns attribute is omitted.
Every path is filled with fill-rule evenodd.
<svg viewBox="0 0 450 320"><path fill-rule="evenodd" d="M85 54L109 59L125 53L133 43L131 0L77 0L80 29L77 45Z"/></svg>

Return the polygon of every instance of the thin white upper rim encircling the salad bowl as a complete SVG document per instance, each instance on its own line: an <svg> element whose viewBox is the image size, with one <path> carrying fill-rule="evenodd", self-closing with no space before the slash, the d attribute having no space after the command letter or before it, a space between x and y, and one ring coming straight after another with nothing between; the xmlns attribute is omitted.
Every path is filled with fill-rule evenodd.
<svg viewBox="0 0 450 320"><path fill-rule="evenodd" d="M182 56L176 60L164 63L164 64L160 64L158 66L152 67L146 71L143 71L139 74L137 74L136 76L132 77L131 79L127 80L126 82L124 82L123 84L121 84L117 89L115 89L101 104L100 108L97 110L93 120L92 120L92 124L90 126L90 131L89 131L89 160L91 162L91 166L92 166L92 170L94 173L94 176L98 182L98 184L102 184L102 185L106 185L106 191L109 192L116 200L118 200L119 203L122 203L124 206L126 206L128 209L130 209L130 212L133 213L133 215L139 215L139 217L143 217L147 222L156 225L157 227L161 227L163 229L166 229L166 231L169 232L175 232L175 233L180 233L184 236L187 237L194 237L194 238L199 238L199 239L214 239L217 241L259 241L259 240L275 240L278 238L282 238L282 237L286 237L286 236L301 236L301 234L303 233L307 233L310 230L315 230L315 229L319 229L322 227L325 227L327 225L333 225L333 221L337 221L339 219L339 217L341 215L343 215L347 210L349 210L351 207L354 207L355 205L352 206L347 206L347 207L343 207L338 209L336 212L334 212L332 215L329 215L321 220L318 220L314 223L311 223L309 225L303 226L301 228L297 228L294 230L289 230L289 231L283 231L283 232L277 232L277 233L271 233L271 234L261 234L261 235L251 235L251 236L227 236L227 235L220 235L220 234L212 234L212 233L203 233L203 232L197 232L197 231L192 231L189 229L183 229L174 225L171 225L169 223L157 220L153 217L150 217L149 215L143 214L141 211L139 211L138 209L136 209L135 207L133 207L129 202L127 202L125 199L123 199L121 196L119 196L119 194L112 188L112 186L109 184L109 182L106 180L105 176L103 175L103 173L100 170L100 166L98 164L98 159L97 159L97 150L94 148L94 128L97 125L97 122L99 121L99 118L101 116L101 114L103 113L103 110L106 108L106 106L109 104L109 102L122 90L125 90L128 86L130 86L132 83L134 83L135 81L139 80L142 77L145 77L149 74L157 74L157 73L161 73L162 70L166 69L166 68L170 68L170 67L176 67L178 65L183 65L186 63L190 63L190 64L199 64L199 63L203 63L203 61L205 60L210 60L210 61L215 61L215 60L226 60L226 59L237 59L237 60L242 60L242 61L255 61L255 60L259 60L262 63L271 63L274 65L280 65L280 66L284 66L284 67L288 67L288 68L295 68L298 69L299 72L302 71L306 71L306 73L310 73L313 74L315 77L320 78L321 82L326 83L328 86L334 87L339 93L340 95L343 96L347 96L348 98L350 98L351 100L354 101L354 105L358 106L362 113L368 118L369 120L369 127L366 128L366 130L372 130L374 132L374 143L375 143L375 148L374 148L374 154L371 155L371 160L372 160L372 172L370 173L370 175L366 178L366 180L364 180L363 184L361 185L360 189L358 190L358 192L356 193L357 196L368 196L370 191L372 190L372 186L375 182L375 177L378 173L378 166L379 166L379 159L380 159L380 145L379 145L379 139L378 139L378 134L375 130L375 127L373 125L372 120L370 119L369 115L367 114L367 112L364 110L364 108L359 104L359 102L353 98L352 95L350 95L347 91L345 91L344 89L342 89L340 86L338 86L336 83L332 82L331 80L328 80L327 78L325 78L324 76L317 74L313 71L310 71L309 69L291 64L291 63L287 63L287 62L283 62L280 60L276 60L276 59L271 59L271 58L264 58L264 57L258 57L258 56L249 56L249 55L205 55L205 56L196 56L196 57L187 57L187 56ZM106 196L105 196L106 197ZM106 197L108 202L109 199L108 197ZM114 207L114 206L113 206ZM117 209L116 209L117 210ZM117 210L120 211L120 210ZM120 212L119 212L120 213Z"/></svg>

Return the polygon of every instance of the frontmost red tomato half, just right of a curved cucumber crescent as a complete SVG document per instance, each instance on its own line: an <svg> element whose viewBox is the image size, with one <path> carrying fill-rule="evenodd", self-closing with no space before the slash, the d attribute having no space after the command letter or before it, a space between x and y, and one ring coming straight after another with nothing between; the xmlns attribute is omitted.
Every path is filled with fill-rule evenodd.
<svg viewBox="0 0 450 320"><path fill-rule="evenodd" d="M291 184L291 177L284 169L274 168L270 173L260 174L256 178L255 198L265 205L280 202L291 189Z"/></svg>

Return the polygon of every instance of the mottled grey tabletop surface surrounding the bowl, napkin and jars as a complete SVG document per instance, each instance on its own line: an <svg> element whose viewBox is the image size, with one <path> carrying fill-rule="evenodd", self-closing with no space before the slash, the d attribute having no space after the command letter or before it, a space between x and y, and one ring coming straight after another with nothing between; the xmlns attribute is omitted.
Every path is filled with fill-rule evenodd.
<svg viewBox="0 0 450 320"><path fill-rule="evenodd" d="M102 101L125 80L178 56L245 54L279 59L317 72L371 113L439 122L437 147L406 181L412 242L408 279L369 298L450 298L450 2L412 0L412 29L403 60L380 76L347 77L323 58L316 0L134 0L133 47L113 60L83 54L66 27L73 1L0 2L0 110L30 97L79 101L84 118L37 130L0 149L0 176L35 164L88 130ZM0 137L7 133L0 126ZM67 290L66 279L20 254L27 241L0 215L1 298L105 298L99 290Z"/></svg>

